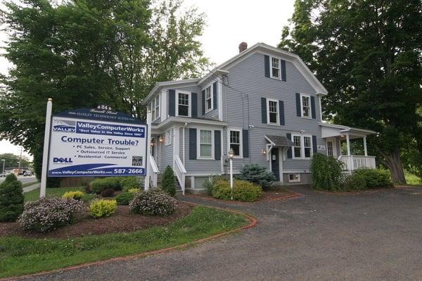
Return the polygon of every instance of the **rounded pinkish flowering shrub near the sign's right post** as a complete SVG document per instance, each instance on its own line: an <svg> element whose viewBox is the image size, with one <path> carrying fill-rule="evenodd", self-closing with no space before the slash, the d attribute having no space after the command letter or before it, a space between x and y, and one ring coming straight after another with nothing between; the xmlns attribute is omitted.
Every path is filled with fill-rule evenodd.
<svg viewBox="0 0 422 281"><path fill-rule="evenodd" d="M149 216L168 216L174 213L176 206L176 199L157 188L134 194L129 203L132 213Z"/></svg>

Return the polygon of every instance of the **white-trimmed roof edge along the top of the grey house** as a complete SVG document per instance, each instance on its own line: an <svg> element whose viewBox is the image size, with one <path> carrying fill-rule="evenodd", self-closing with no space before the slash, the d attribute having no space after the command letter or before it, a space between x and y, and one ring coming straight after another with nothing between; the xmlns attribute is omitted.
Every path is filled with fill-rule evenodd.
<svg viewBox="0 0 422 281"><path fill-rule="evenodd" d="M187 79L187 80L176 80L176 81L166 81L166 82L158 82L155 84L151 92L149 92L148 96L142 101L143 104L146 104L149 99L151 99L151 96L165 86L171 86L171 85L187 85L187 84L195 84L200 85L205 80L210 78L212 75L215 75L216 73L228 73L229 68L236 65L237 63L240 63L245 58L248 58L248 56L255 54L256 52L262 52L263 54L273 54L275 56L281 56L286 59L286 61L290 61L293 63L293 65L298 68L300 73L305 77L307 82L315 89L317 94L328 94L328 91L324 87L324 85L319 82L318 79L316 79L314 73L312 73L311 70L307 67L307 65L302 61L302 59L297 55L290 53L289 51L284 51L279 48L275 48L274 46L269 46L268 44L264 43L257 43L253 46L250 46L250 48L245 49L245 51L242 51L241 53L237 54L236 56L230 58L228 61L225 61L224 63L218 65L214 69L210 71L210 73L207 73L202 78L196 78L196 79Z"/></svg>

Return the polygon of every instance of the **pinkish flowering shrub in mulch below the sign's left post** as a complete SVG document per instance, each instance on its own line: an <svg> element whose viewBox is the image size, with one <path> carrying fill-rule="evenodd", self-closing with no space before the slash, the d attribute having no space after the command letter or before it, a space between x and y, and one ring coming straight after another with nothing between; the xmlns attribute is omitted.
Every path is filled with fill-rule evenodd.
<svg viewBox="0 0 422 281"><path fill-rule="evenodd" d="M57 227L74 223L84 210L84 203L79 200L43 198L25 204L19 223L25 230L48 232Z"/></svg>

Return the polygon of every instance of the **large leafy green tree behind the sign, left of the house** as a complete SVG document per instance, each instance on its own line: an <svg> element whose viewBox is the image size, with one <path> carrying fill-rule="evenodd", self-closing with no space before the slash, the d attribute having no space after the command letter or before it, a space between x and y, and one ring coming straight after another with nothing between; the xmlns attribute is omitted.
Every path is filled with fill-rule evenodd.
<svg viewBox="0 0 422 281"><path fill-rule="evenodd" d="M1 77L0 139L30 151L37 174L47 98L53 112L109 104L142 118L155 82L207 64L196 40L203 15L180 15L179 1L10 1L2 13L15 66Z"/></svg>

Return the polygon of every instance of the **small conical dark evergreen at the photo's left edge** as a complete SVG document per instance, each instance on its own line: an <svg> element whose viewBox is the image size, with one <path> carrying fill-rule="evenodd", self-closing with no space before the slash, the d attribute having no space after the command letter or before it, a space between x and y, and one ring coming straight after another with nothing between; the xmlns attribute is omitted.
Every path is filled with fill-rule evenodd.
<svg viewBox="0 0 422 281"><path fill-rule="evenodd" d="M22 182L10 174L0 185L0 221L15 221L22 213Z"/></svg>

